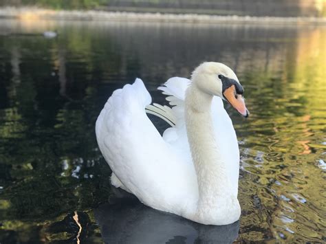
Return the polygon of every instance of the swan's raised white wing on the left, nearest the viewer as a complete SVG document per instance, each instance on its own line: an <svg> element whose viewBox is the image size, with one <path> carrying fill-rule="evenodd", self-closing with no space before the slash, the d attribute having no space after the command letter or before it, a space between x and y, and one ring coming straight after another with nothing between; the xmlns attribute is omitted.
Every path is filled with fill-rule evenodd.
<svg viewBox="0 0 326 244"><path fill-rule="evenodd" d="M146 116L151 96L140 79L113 92L96 121L98 145L111 170L140 201L182 214L197 197L194 167L164 142Z"/></svg>

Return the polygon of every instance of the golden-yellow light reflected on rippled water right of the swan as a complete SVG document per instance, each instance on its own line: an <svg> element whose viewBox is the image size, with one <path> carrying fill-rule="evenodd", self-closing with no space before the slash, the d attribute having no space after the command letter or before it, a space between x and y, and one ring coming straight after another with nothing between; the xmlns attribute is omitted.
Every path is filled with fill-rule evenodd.
<svg viewBox="0 0 326 244"><path fill-rule="evenodd" d="M255 115L246 126L252 133L246 131L243 138L242 165L250 174L243 175L239 194L242 198L247 188L257 188L242 202L244 209L250 202L258 209L243 214L241 223L250 226L256 219L288 242L320 241L325 230L325 179L317 164L319 158L325 160L326 149L325 34L325 28L298 32L296 48L285 63L287 70L274 89L276 110L265 119ZM255 108L252 113L263 113L264 107ZM257 131L269 127L273 133L258 139ZM246 148L249 144L254 146Z"/></svg>

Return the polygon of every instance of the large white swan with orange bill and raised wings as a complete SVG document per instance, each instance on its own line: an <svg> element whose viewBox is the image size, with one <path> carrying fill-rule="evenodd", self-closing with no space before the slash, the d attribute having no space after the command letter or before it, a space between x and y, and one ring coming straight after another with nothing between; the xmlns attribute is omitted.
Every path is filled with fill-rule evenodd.
<svg viewBox="0 0 326 244"><path fill-rule="evenodd" d="M146 206L206 225L237 221L239 147L222 99L247 117L239 80L206 62L191 76L159 87L172 107L151 104L144 83L113 91L96 120L96 138L111 183ZM161 136L146 111L171 124Z"/></svg>

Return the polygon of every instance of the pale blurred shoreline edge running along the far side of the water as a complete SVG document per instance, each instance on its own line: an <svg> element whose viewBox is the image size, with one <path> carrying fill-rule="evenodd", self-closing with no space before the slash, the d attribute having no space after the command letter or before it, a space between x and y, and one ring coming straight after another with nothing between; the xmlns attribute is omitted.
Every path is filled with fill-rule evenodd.
<svg viewBox="0 0 326 244"><path fill-rule="evenodd" d="M326 18L219 16L208 14L164 14L149 12L110 12L102 10L50 10L43 8L0 8L0 19L112 21L157 23L243 23L261 25L326 25Z"/></svg>

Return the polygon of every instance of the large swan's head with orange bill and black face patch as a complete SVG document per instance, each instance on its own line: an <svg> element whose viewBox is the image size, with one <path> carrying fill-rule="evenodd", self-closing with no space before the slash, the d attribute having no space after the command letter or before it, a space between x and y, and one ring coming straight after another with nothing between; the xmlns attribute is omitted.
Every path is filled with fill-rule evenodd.
<svg viewBox="0 0 326 244"><path fill-rule="evenodd" d="M202 63L193 71L191 80L201 91L227 100L239 113L248 117L249 111L242 97L243 87L228 66L215 62Z"/></svg>

